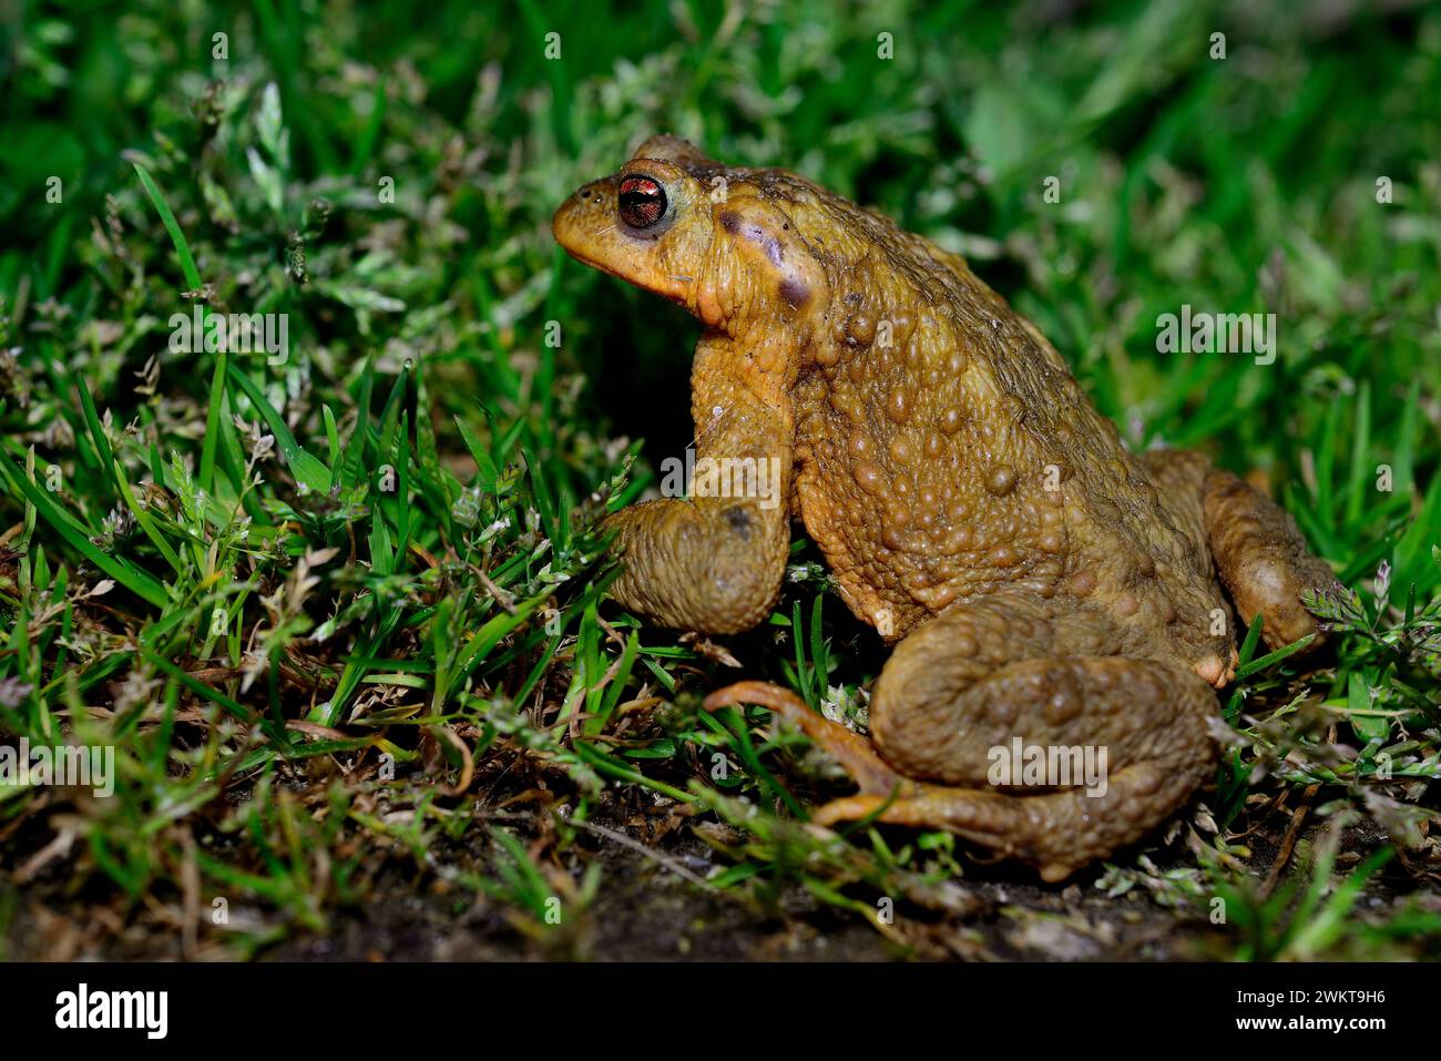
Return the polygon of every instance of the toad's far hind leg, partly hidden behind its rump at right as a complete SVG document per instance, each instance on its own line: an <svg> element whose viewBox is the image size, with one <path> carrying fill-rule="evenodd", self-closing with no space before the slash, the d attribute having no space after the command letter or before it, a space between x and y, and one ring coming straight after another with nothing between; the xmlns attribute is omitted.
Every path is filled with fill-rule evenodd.
<svg viewBox="0 0 1441 1061"><path fill-rule="evenodd" d="M1317 634L1316 618L1301 603L1306 591L1336 585L1326 561L1313 556L1290 513L1229 471L1213 470L1205 484L1205 522L1210 552L1241 621L1261 616L1268 647Z"/></svg>

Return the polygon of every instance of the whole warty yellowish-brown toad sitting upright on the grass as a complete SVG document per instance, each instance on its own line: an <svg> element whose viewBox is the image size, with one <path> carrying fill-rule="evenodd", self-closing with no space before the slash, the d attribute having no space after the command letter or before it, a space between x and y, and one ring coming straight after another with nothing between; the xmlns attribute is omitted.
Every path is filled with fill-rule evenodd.
<svg viewBox="0 0 1441 1061"><path fill-rule="evenodd" d="M1301 592L1333 578L1290 516L1200 454L1128 453L961 257L676 137L581 187L553 231L702 321L697 456L768 463L790 499L710 490L615 513L617 600L672 627L746 630L777 600L797 515L850 610L899 642L873 748L777 686L706 701L765 705L847 768L859 794L816 822L944 827L1062 879L1213 770L1232 603L1264 617L1270 646L1317 633ZM1036 748L1053 767L1104 748L1108 777L997 783L1001 758Z"/></svg>

